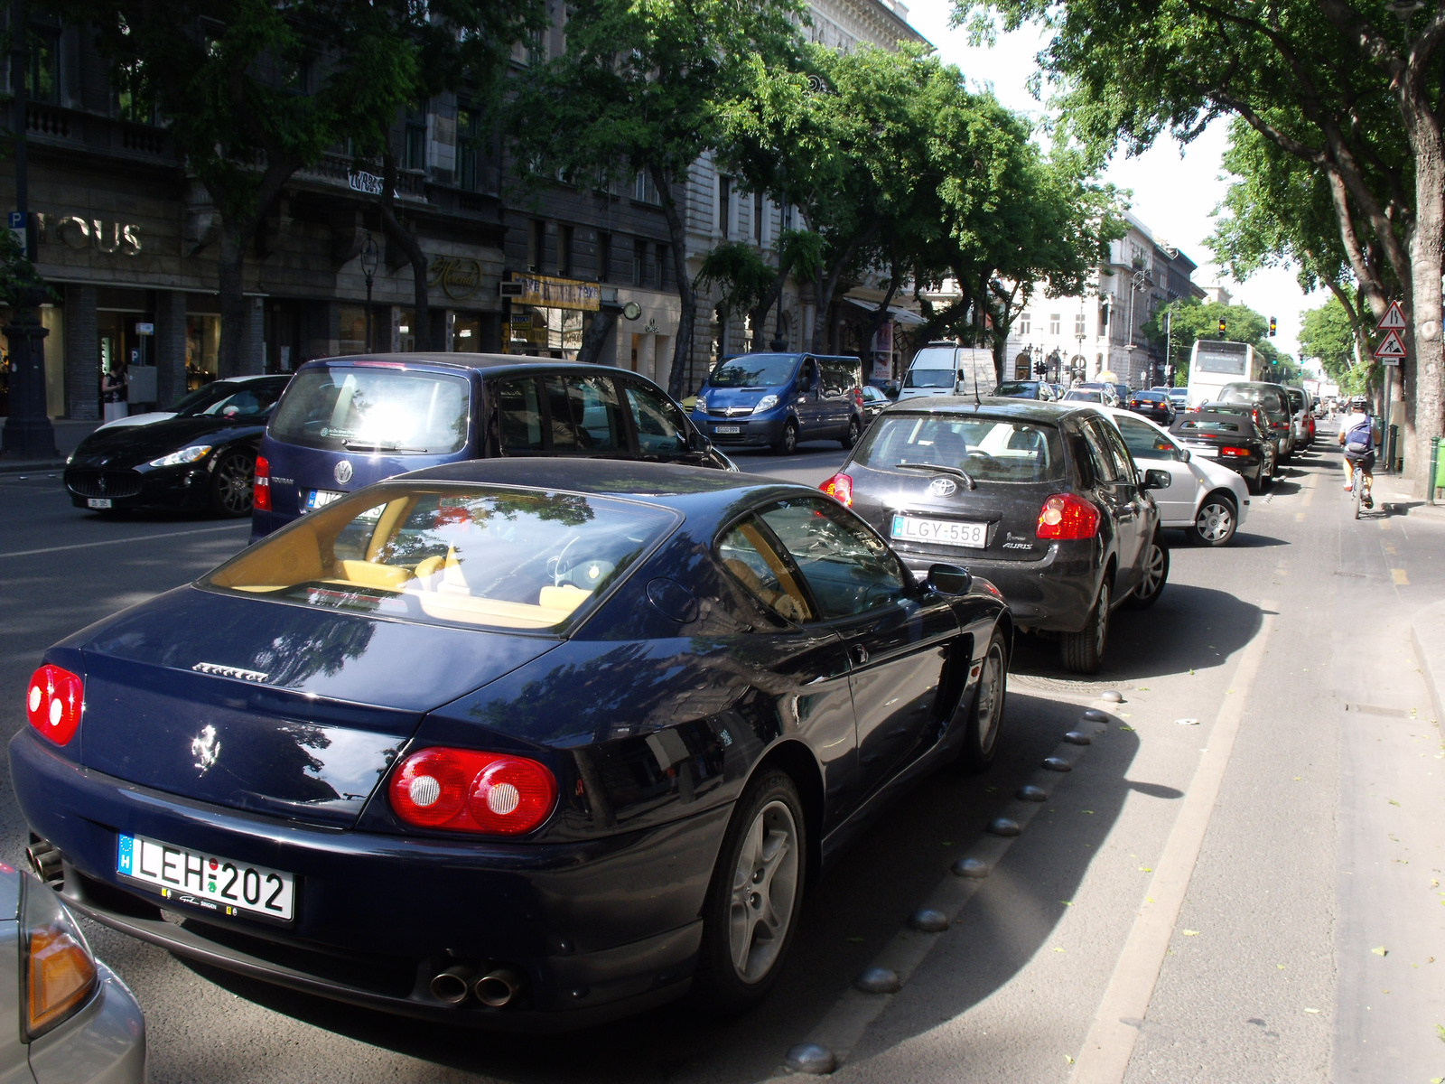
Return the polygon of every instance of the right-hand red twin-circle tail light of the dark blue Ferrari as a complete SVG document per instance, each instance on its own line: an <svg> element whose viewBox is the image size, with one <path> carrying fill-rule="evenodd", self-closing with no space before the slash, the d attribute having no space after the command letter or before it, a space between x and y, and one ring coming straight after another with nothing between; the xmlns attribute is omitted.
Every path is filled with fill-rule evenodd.
<svg viewBox="0 0 1445 1084"><path fill-rule="evenodd" d="M522 835L556 805L556 779L525 756L473 749L423 749L392 776L392 809L407 824Z"/></svg>

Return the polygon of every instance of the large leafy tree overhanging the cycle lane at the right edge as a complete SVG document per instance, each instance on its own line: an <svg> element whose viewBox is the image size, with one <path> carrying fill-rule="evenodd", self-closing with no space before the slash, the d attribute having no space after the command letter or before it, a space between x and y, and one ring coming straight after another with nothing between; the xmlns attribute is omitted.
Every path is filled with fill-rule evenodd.
<svg viewBox="0 0 1445 1084"><path fill-rule="evenodd" d="M1100 158L1117 146L1142 150L1163 132L1188 142L1233 114L1322 178L1340 250L1371 315L1384 315L1397 283L1410 319L1405 428L1423 484L1445 395L1445 9L1381 0L955 0L954 14L983 38L997 14L1010 29L1025 20L1048 26L1043 62L1064 88L1065 129ZM1287 208L1286 240L1303 237L1295 227L1305 218Z"/></svg>

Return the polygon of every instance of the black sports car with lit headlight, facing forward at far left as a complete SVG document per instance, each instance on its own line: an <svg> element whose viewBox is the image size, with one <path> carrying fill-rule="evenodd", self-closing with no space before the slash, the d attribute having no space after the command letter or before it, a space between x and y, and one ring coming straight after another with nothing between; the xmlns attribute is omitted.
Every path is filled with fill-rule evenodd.
<svg viewBox="0 0 1445 1084"><path fill-rule="evenodd" d="M217 380L172 418L95 429L65 461L71 503L250 515L262 434L289 380Z"/></svg>

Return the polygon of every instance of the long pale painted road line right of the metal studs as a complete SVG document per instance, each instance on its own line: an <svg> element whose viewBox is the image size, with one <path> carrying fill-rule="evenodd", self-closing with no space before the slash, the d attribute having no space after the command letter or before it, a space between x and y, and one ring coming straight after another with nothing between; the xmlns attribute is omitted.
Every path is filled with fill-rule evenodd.
<svg viewBox="0 0 1445 1084"><path fill-rule="evenodd" d="M1230 679L1227 688L1233 689L1233 695L1225 697L1220 714L1214 718L1209 747L1199 759L1179 818L1169 833L1163 854L1155 863L1156 873L1144 893L1144 903L1139 908L1134 928L1129 932L1129 941L1124 942L1124 951L1114 965L1114 976L1104 990L1088 1038L1084 1039L1084 1048L1069 1077L1071 1084L1118 1084L1124 1080L1134 1044L1139 1041L1139 1020L1149 1012L1159 968L1169 950L1175 922L1179 921L1179 909L1183 906L1183 896L1189 889L1199 848L1204 846L1204 834L1209 828L1209 817L1220 796L1230 753L1234 752L1244 704L1264 659L1264 648L1274 627L1272 611L1276 608L1273 601L1260 603L1264 620L1244 649L1244 658Z"/></svg>

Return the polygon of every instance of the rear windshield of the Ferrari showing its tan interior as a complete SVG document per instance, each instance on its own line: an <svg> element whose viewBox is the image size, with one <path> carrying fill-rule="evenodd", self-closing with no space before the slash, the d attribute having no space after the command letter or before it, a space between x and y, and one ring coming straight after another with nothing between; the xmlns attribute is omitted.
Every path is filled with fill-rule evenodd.
<svg viewBox="0 0 1445 1084"><path fill-rule="evenodd" d="M561 632L676 519L582 493L389 484L305 516L201 584L425 624Z"/></svg>

